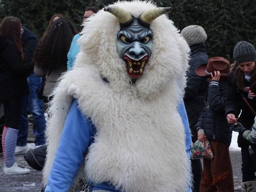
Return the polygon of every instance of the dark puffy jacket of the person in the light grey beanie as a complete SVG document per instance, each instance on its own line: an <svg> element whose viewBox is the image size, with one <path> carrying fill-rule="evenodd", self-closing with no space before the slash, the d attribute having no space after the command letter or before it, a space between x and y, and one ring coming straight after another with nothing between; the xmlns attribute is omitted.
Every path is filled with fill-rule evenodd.
<svg viewBox="0 0 256 192"><path fill-rule="evenodd" d="M206 46L204 43L190 46L191 54L189 71L187 72L187 86L185 88L184 104L189 119L191 133L195 133L195 124L205 106L205 95L208 81L205 77L197 76L195 69L208 62Z"/></svg>

